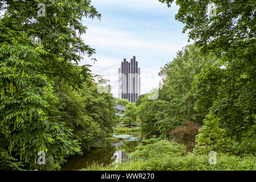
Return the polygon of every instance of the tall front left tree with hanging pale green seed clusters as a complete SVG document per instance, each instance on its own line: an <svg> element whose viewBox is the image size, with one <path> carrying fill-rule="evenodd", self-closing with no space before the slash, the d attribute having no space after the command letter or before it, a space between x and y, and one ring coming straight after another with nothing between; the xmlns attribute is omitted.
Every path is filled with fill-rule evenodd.
<svg viewBox="0 0 256 182"><path fill-rule="evenodd" d="M88 65L75 64L82 53L94 53L79 37L87 29L80 20L100 17L86 0L43 1L46 16L39 16L40 2L0 1L0 133L9 143L4 149L25 168L36 163L38 151L80 151L67 127L48 120L44 96L56 78L75 88L91 80Z"/></svg>

